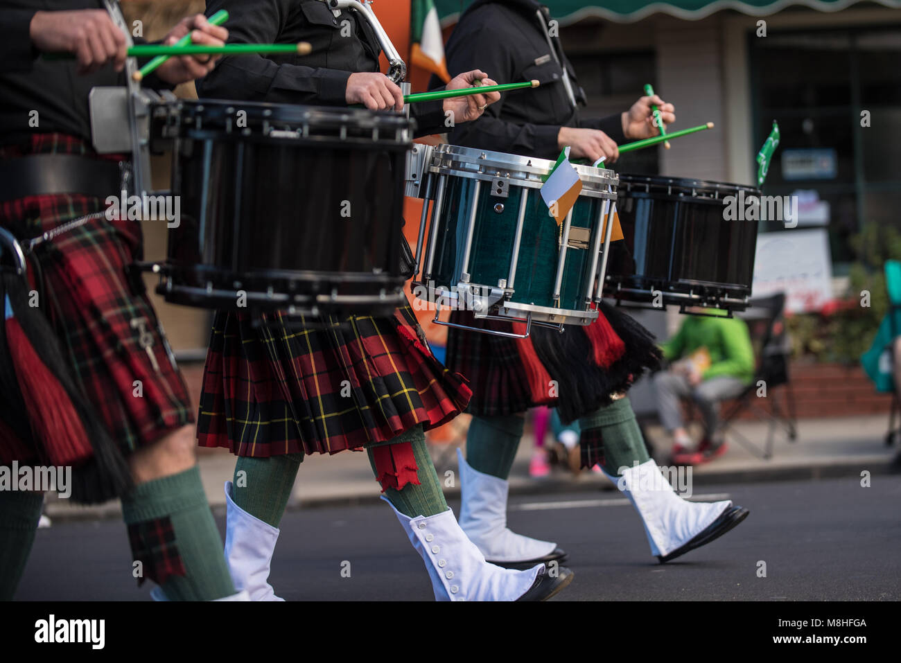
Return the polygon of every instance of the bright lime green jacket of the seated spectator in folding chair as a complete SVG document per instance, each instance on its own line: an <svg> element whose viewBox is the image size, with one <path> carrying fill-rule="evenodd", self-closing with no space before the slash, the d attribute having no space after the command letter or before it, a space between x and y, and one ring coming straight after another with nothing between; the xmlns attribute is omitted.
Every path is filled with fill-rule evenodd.
<svg viewBox="0 0 901 663"><path fill-rule="evenodd" d="M675 361L706 348L710 368L702 376L738 377L751 382L754 377L754 349L748 325L738 318L688 315L678 332L660 346L664 358Z"/></svg>

